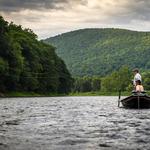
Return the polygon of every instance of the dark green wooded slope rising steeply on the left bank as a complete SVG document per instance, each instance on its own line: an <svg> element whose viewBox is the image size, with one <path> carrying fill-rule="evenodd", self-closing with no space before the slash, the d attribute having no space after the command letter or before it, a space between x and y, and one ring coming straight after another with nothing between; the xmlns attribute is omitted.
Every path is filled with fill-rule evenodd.
<svg viewBox="0 0 150 150"><path fill-rule="evenodd" d="M0 92L68 93L72 77L55 48L0 17Z"/></svg>

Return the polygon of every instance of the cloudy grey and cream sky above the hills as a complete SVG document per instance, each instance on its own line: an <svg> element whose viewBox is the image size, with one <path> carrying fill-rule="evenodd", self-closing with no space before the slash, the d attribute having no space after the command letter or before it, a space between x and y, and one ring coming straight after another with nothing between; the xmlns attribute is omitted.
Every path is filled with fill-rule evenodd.
<svg viewBox="0 0 150 150"><path fill-rule="evenodd" d="M0 15L39 39L83 28L150 31L150 0L0 0Z"/></svg>

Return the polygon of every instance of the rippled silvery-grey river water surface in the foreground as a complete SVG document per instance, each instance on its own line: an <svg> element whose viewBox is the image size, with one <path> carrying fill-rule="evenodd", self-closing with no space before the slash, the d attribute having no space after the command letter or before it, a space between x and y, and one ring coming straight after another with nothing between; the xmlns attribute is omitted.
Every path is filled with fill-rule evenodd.
<svg viewBox="0 0 150 150"><path fill-rule="evenodd" d="M0 150L148 150L150 111L117 97L0 100Z"/></svg>

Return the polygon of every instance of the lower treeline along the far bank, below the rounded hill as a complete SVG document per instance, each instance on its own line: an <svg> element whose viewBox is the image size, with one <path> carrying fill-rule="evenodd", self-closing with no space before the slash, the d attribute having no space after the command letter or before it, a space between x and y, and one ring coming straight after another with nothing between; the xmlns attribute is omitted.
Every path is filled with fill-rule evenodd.
<svg viewBox="0 0 150 150"><path fill-rule="evenodd" d="M142 73L145 90L150 90L150 71ZM78 77L75 78L72 92L118 92L133 90L133 74L128 66L121 67L105 77Z"/></svg>

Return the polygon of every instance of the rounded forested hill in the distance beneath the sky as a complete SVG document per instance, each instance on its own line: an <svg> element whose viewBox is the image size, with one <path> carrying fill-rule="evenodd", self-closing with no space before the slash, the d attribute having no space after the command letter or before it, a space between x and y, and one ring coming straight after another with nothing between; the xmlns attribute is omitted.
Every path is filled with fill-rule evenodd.
<svg viewBox="0 0 150 150"><path fill-rule="evenodd" d="M105 76L123 65L150 69L150 33L82 29L48 38L74 76Z"/></svg>

